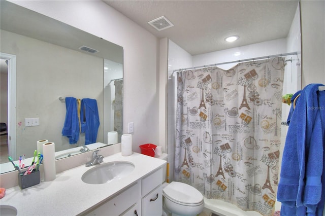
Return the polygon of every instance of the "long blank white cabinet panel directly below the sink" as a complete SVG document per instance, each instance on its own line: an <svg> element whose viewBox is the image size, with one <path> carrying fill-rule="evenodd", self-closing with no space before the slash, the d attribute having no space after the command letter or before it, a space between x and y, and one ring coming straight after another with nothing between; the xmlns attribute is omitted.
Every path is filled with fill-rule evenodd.
<svg viewBox="0 0 325 216"><path fill-rule="evenodd" d="M107 202L97 206L86 215L107 215L108 213L109 215L119 215L137 203L139 201L139 195L140 184L137 182L134 185L127 187Z"/></svg>

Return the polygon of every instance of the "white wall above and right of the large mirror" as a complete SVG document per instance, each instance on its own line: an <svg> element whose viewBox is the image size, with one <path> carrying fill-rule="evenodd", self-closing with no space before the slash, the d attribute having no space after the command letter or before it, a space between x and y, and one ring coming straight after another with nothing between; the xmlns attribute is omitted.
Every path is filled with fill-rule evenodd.
<svg viewBox="0 0 325 216"><path fill-rule="evenodd" d="M133 151L140 152L143 143L158 143L156 37L102 1L13 2L122 46L123 125L134 122Z"/></svg>

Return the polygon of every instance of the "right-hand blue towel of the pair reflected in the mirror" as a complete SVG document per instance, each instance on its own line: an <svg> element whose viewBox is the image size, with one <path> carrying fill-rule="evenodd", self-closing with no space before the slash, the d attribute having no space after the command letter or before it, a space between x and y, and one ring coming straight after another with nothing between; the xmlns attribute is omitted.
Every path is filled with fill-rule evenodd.
<svg viewBox="0 0 325 216"><path fill-rule="evenodd" d="M100 118L95 99L84 98L81 100L80 118L81 132L85 133L85 145L96 142Z"/></svg>

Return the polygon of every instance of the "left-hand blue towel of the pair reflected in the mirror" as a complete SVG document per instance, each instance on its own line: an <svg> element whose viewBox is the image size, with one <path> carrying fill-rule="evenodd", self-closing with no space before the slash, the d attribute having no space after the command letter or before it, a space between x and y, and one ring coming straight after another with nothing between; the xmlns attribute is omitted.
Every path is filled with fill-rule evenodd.
<svg viewBox="0 0 325 216"><path fill-rule="evenodd" d="M79 139L77 99L74 97L66 97L66 109L67 114L62 129L62 135L69 137L70 144L75 144Z"/></svg>

